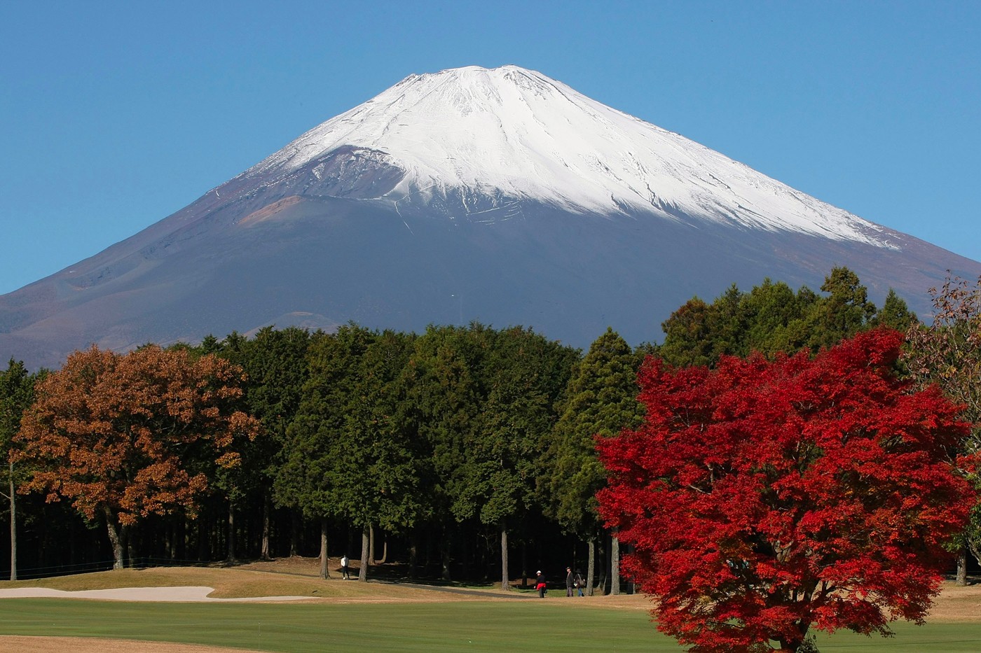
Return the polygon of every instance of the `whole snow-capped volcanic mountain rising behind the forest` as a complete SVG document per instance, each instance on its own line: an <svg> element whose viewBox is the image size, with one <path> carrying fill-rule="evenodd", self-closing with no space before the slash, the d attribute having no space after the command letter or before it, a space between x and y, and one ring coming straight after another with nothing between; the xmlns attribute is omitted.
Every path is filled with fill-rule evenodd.
<svg viewBox="0 0 981 653"><path fill-rule="evenodd" d="M851 268L930 313L981 263L515 66L410 75L181 209L0 296L0 358L260 326L534 326L632 342L697 294Z"/></svg>

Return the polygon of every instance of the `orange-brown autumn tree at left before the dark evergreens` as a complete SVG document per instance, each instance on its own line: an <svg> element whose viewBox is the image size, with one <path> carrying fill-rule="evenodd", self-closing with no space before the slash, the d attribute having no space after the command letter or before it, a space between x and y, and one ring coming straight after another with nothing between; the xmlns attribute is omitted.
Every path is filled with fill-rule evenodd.
<svg viewBox="0 0 981 653"><path fill-rule="evenodd" d="M194 515L206 471L238 465L236 443L259 433L235 409L242 381L228 361L181 349L77 351L37 385L24 415L17 456L37 471L20 491L70 500L86 520L104 521L121 569L120 527Z"/></svg>

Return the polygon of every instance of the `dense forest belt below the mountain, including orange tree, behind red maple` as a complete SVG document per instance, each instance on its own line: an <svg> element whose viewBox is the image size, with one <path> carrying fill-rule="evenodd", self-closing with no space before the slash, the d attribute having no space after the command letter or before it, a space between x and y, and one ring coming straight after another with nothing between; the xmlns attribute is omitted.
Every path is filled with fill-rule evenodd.
<svg viewBox="0 0 981 653"><path fill-rule="evenodd" d="M950 299L949 285L935 297ZM712 367L816 353L875 326L919 332L919 352L945 355L931 339L944 324L919 325L892 292L876 307L837 268L820 292L765 279L695 297L659 345L631 347L612 328L584 353L522 326L349 324L92 347L58 371L12 359L0 371L0 573L348 555L362 578L376 562L501 583L571 565L619 592L594 437L643 419L645 357ZM908 360L910 378L942 381Z"/></svg>

